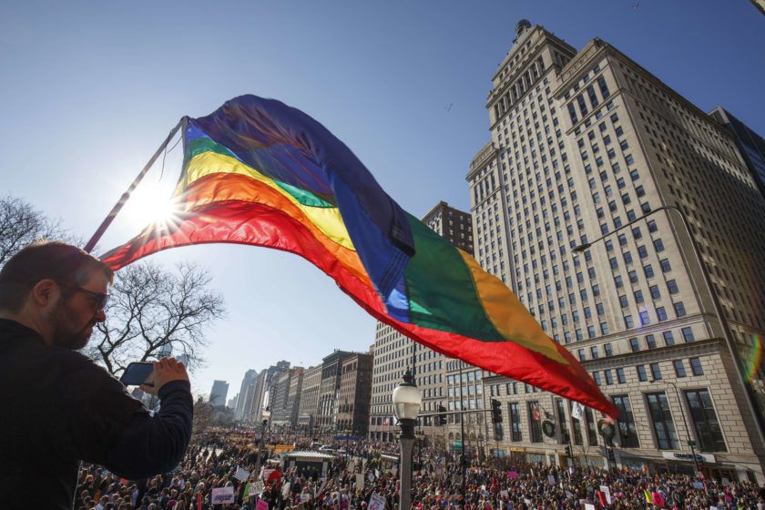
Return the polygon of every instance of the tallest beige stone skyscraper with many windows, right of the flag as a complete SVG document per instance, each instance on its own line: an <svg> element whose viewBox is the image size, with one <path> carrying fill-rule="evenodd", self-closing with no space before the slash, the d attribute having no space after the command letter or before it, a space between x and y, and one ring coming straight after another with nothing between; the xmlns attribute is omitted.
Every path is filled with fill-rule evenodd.
<svg viewBox="0 0 765 510"><path fill-rule="evenodd" d="M730 132L615 47L525 20L486 107L475 256L616 403L616 462L691 473L692 448L708 474L765 481L765 199ZM566 464L570 438L605 465L597 413L499 376L491 398L495 454Z"/></svg>

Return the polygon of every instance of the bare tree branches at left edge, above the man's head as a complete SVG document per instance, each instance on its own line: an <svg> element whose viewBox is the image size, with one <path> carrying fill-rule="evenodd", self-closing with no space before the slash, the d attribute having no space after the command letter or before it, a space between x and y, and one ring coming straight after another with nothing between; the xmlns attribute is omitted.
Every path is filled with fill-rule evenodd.
<svg viewBox="0 0 765 510"><path fill-rule="evenodd" d="M0 198L0 267L15 252L38 239L70 240L60 222L46 218L24 199Z"/></svg>

